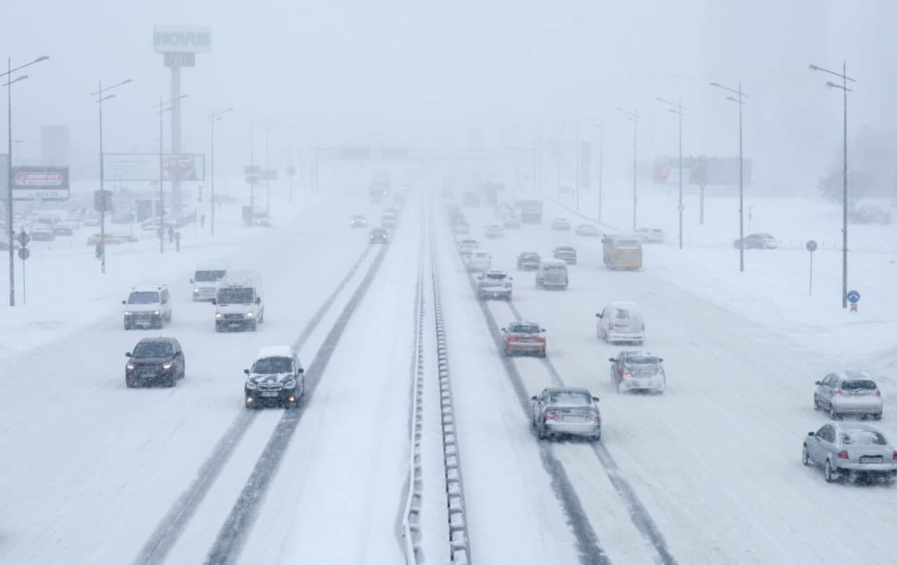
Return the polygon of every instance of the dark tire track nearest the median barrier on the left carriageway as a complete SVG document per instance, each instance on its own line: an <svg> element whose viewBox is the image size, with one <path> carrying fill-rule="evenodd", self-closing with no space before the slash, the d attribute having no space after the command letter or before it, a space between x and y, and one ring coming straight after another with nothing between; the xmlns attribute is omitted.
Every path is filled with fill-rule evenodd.
<svg viewBox="0 0 897 565"><path fill-rule="evenodd" d="M302 397L303 402L295 409L284 412L280 422L277 422L277 426L274 428L271 438L268 439L262 455L258 457L252 473L249 474L246 485L240 491L236 502L234 502L231 513L224 521L221 530L219 530L212 549L205 556L205 565L226 565L237 561L239 558L239 552L246 542L252 524L257 517L258 507L265 498L268 486L271 484L274 474L283 460L283 455L286 453L287 444L292 439L302 414L305 413L305 408L309 405L311 397L315 393L315 389L318 388L318 382L327 369L327 364L330 362L330 358L340 338L343 336L350 318L361 303L361 299L367 293L370 283L374 280L374 275L379 271L379 266L383 262L387 250L388 247L384 246L379 250L377 256L374 257L368 273L365 274L361 284L354 291L352 298L346 303L340 316L336 318L335 324L327 333L327 337L318 350L318 354L315 355L315 358L309 364L309 369L306 371L306 389L305 395Z"/></svg>

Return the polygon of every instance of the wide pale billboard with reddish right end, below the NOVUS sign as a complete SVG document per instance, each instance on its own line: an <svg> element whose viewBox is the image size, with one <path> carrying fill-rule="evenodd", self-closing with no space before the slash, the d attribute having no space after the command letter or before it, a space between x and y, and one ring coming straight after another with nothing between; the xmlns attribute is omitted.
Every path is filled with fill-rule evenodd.
<svg viewBox="0 0 897 565"><path fill-rule="evenodd" d="M106 180L159 180L159 153L105 153ZM205 180L202 153L163 153L162 180Z"/></svg>

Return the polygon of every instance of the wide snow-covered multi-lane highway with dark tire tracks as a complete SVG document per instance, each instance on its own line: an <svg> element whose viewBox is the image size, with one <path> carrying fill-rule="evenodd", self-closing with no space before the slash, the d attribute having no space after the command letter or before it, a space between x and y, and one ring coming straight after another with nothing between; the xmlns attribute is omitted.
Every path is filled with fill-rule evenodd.
<svg viewBox="0 0 897 565"><path fill-rule="evenodd" d="M0 562L404 562L418 292L427 352L418 559L448 561L431 274L471 562L881 562L893 486L829 485L800 463L806 431L828 421L808 382L831 359L652 274L650 256L667 249L650 249L641 271L611 272L600 239L547 222L482 239L494 222L487 208L466 209L472 237L514 276L514 297L475 300L443 208L413 193L385 246L348 229L352 213L379 213L358 196L309 203L254 233L230 260L265 276L266 323L255 333L215 333L187 276L166 272L174 316L161 334L178 337L187 359L175 388L125 387L123 353L158 332L123 331L115 310L43 346L52 354L22 356L13 374L51 376L53 386L0 398L0 450L15 462L0 482L16 485L0 493L14 517ZM514 269L518 253L550 256L564 244L579 250L567 291L538 290L534 274ZM626 348L597 340L595 312L614 300L645 311L644 349L665 360L663 395L611 384L607 358ZM503 356L499 328L515 319L547 328L546 359ZM277 343L298 348L306 395L296 410L248 411L242 369ZM536 439L529 396L550 386L600 397L600 442ZM888 414L877 423L897 437ZM820 531L849 542L822 543Z"/></svg>

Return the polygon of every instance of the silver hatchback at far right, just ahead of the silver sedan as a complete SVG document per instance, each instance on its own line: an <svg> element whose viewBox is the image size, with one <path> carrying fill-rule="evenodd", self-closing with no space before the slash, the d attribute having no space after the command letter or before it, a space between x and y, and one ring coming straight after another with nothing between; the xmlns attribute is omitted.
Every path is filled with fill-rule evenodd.
<svg viewBox="0 0 897 565"><path fill-rule="evenodd" d="M830 373L822 380L817 380L815 385L813 407L816 410L828 410L832 420L845 415L882 419L882 391L866 373Z"/></svg>

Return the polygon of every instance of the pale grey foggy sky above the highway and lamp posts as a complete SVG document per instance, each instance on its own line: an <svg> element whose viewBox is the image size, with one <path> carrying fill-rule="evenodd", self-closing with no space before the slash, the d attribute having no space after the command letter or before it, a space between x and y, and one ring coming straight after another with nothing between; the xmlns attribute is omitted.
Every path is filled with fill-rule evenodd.
<svg viewBox="0 0 897 565"><path fill-rule="evenodd" d="M50 57L13 86L13 137L24 140L25 160L39 158L41 124L71 126L76 156L95 153L90 93L100 80L126 78L134 83L104 104L106 151L156 151L153 105L170 98L170 81L152 26L194 24L213 29L213 52L183 71L182 147L208 152L207 114L233 106L218 124L218 148L234 172L248 161L249 124L262 117L296 126L297 146L460 146L473 126L485 144L530 144L540 131L560 135L561 121L588 139L597 131L586 117L595 117L605 121L605 170L624 178L631 122L617 107L639 109L645 161L676 151L675 115L658 96L682 97L686 155L734 156L736 105L708 83L741 81L755 182L814 186L821 169L840 164L842 100L808 64L838 70L846 59L858 80L851 135L893 138L891 4L6 0L0 55L13 66ZM285 131L272 132L275 146Z"/></svg>

